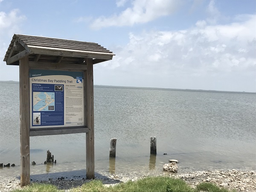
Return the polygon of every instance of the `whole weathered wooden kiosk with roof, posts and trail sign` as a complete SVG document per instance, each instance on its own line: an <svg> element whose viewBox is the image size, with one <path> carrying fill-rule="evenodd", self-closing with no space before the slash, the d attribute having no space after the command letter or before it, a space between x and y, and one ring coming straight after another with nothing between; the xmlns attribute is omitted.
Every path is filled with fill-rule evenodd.
<svg viewBox="0 0 256 192"><path fill-rule="evenodd" d="M94 178L93 64L113 55L92 42L13 35L3 61L20 69L20 186L30 182L31 136L86 133Z"/></svg>

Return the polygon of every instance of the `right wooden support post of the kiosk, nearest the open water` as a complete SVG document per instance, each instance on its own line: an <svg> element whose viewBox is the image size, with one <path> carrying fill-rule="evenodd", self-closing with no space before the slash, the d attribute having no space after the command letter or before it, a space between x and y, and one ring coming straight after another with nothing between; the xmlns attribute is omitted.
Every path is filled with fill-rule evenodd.
<svg viewBox="0 0 256 192"><path fill-rule="evenodd" d="M94 179L94 107L93 107L93 59L87 58L87 87L86 87L86 179Z"/></svg>

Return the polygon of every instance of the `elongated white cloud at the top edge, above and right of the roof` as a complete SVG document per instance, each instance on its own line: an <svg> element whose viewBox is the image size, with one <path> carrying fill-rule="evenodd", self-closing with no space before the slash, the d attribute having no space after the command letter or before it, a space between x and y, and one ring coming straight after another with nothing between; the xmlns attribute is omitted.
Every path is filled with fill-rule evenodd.
<svg viewBox="0 0 256 192"><path fill-rule="evenodd" d="M118 1L118 6L125 1ZM125 9L119 15L99 17L93 21L91 28L101 29L109 26L133 26L137 23L147 23L158 17L175 12L180 1L177 0L134 0L132 7Z"/></svg>

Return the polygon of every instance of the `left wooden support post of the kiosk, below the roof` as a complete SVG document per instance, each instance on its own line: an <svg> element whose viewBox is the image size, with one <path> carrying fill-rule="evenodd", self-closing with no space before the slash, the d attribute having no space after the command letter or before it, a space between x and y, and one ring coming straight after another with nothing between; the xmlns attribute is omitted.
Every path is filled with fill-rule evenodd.
<svg viewBox="0 0 256 192"><path fill-rule="evenodd" d="M30 183L29 57L20 59L20 186Z"/></svg>

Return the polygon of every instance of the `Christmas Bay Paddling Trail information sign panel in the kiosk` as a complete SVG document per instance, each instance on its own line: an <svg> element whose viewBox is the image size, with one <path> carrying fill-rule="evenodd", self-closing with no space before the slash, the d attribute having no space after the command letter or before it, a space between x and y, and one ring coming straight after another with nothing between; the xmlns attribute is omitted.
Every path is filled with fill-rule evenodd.
<svg viewBox="0 0 256 192"><path fill-rule="evenodd" d="M30 69L30 128L84 126L83 76Z"/></svg>

